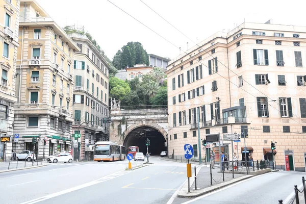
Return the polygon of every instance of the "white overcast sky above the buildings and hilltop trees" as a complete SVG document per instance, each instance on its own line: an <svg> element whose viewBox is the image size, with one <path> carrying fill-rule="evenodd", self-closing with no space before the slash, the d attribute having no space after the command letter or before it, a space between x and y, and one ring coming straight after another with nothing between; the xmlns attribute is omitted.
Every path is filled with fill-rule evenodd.
<svg viewBox="0 0 306 204"><path fill-rule="evenodd" d="M194 44L173 29L140 0L110 0L149 28L187 49ZM200 42L218 31L232 30L236 24L264 23L306 25L306 1L204 1L204 0L142 0L194 42ZM174 58L179 49L145 28L141 23L116 8L107 0L37 0L61 27L84 25L106 55L113 59L117 50L130 41L139 41L148 54Z"/></svg>

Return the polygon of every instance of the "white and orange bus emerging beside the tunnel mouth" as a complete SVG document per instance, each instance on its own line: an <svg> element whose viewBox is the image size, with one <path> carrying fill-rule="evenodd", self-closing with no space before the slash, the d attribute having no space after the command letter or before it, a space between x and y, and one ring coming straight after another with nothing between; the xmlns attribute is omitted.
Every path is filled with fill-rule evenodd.
<svg viewBox="0 0 306 204"><path fill-rule="evenodd" d="M124 146L114 142L96 142L94 148L94 161L119 161L122 158L121 151L125 149ZM122 150L121 150L122 149ZM122 154L123 155L123 154ZM121 156L121 157L120 157Z"/></svg>

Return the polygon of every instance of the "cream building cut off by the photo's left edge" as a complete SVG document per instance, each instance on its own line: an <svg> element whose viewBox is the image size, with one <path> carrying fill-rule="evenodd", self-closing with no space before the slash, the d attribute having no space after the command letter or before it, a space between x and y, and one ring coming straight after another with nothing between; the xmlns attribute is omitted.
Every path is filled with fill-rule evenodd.
<svg viewBox="0 0 306 204"><path fill-rule="evenodd" d="M19 0L0 1L0 161L11 157L14 121Z"/></svg>

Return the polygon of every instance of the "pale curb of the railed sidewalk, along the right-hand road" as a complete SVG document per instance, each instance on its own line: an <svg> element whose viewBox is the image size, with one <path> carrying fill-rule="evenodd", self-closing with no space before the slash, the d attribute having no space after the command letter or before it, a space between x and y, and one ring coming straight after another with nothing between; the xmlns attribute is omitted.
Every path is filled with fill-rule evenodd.
<svg viewBox="0 0 306 204"><path fill-rule="evenodd" d="M242 177L239 177L237 179L233 179L231 181L228 181L228 182L224 182L224 183L221 183L221 184L217 184L215 186L211 186L211 187L207 187L205 189L202 189L202 190L199 190L199 191L192 191L190 193L181 193L179 192L177 194L177 197L198 197L200 195L204 195L204 194L207 194L207 193L210 193L212 191L215 191L215 190L218 190L220 188L223 188L223 187L226 187L226 186L229 186L229 185L232 185L232 184L235 184L237 182L240 182L240 181L243 181L243 180L246 180L246 179L249 179L250 177L253 177L254 175L246 175L246 176L242 176ZM191 184L192 186L192 184ZM182 188L183 189L183 188ZM182 191L182 190L181 190ZM184 190L186 191L186 190Z"/></svg>

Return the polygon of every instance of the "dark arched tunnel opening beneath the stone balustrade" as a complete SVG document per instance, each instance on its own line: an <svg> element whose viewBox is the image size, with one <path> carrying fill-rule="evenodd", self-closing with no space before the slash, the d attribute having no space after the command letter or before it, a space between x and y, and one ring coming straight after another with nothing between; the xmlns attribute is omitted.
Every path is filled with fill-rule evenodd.
<svg viewBox="0 0 306 204"><path fill-rule="evenodd" d="M150 140L150 146L148 146L148 151L151 153L151 156L160 155L162 151L166 151L165 147L165 137L161 132L159 132L154 127L150 126L141 126L133 129L125 137L123 145L126 148L129 146L138 146L139 151L146 154L146 145L145 140L148 138Z"/></svg>

